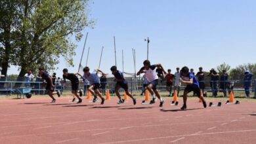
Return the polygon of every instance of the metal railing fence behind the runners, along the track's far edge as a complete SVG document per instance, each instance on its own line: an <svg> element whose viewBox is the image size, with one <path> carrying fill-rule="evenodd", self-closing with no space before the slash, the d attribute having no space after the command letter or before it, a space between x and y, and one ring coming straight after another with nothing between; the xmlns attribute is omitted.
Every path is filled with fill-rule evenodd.
<svg viewBox="0 0 256 144"><path fill-rule="evenodd" d="M24 79L24 78L22 78ZM22 88L22 87L30 87L32 88L32 94L46 94L45 93L45 84L41 81L35 81L35 82L24 82L24 81L8 81L11 79L1 79L0 80L0 95L3 94L15 94L16 88ZM13 79L12 79L13 80ZM106 82L106 89L110 90L111 94L114 94L114 88L116 85L116 82L113 81L114 78L108 78ZM140 92L143 89L143 82L139 78L127 78L129 90L131 93L134 92ZM232 80L232 81L209 81L205 80L205 92L208 92L214 96L214 92L228 92L229 90L232 91L244 91L244 82L241 80ZM221 83L224 83L224 88ZM181 86L181 89L184 89L184 86ZM65 85L60 84L60 82L56 81L55 83L55 89L56 90L71 90L71 84L70 82L66 82ZM86 90L84 83L81 82L79 84L79 89ZM122 89L120 89L122 90ZM158 90L161 92L166 92L166 81L159 80L158 84ZM251 86L249 88L250 92L256 91L256 80L251 81ZM254 94L254 98L256 98L256 93Z"/></svg>

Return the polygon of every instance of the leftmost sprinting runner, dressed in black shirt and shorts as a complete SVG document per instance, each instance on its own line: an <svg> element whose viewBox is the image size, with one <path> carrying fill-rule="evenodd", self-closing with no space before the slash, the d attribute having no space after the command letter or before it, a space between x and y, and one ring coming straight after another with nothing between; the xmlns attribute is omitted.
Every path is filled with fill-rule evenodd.
<svg viewBox="0 0 256 144"><path fill-rule="evenodd" d="M45 86L46 92L53 99L51 103L55 103L56 99L53 97L53 95L57 94L58 97L60 97L60 92L54 92L54 84L52 77L48 75L48 73L46 73L42 68L39 68L39 75L42 77L42 80L47 82Z"/></svg>

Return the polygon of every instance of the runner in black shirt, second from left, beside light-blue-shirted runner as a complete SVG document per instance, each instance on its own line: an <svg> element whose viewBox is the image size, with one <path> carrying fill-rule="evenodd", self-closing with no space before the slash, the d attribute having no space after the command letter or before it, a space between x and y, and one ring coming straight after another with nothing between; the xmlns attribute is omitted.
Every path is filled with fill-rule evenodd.
<svg viewBox="0 0 256 144"><path fill-rule="evenodd" d="M66 79L71 81L71 88L72 88L72 94L75 94L76 98L79 99L79 101L77 103L81 103L82 99L80 98L81 96L83 96L83 90L78 90L79 89L79 80L77 78L77 76L74 73L68 73L68 69L63 69L63 81L62 83L66 83ZM78 94L80 95L80 97L78 96ZM73 98L72 102L75 101L75 98Z"/></svg>

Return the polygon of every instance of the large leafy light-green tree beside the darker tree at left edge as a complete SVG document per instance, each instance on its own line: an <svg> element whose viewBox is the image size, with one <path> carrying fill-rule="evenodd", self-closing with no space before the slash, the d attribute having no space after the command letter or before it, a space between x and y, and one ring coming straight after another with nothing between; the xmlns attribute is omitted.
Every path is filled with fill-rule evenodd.
<svg viewBox="0 0 256 144"><path fill-rule="evenodd" d="M13 54L7 56L9 62L3 63L2 60L1 65L17 65L20 69L19 77L23 77L28 69L54 69L60 56L73 65L72 56L75 56L76 45L70 41L70 37L74 36L79 41L82 37L81 31L94 24L85 13L88 0L12 2L11 8L14 12L7 18L17 26L8 26L14 27L12 31L17 35L11 43ZM7 0L1 1L1 7L7 3ZM1 22L5 21L1 19ZM3 33L1 29L0 33ZM10 37L5 37L5 41L10 40L13 41ZM6 45L2 47L7 49Z"/></svg>

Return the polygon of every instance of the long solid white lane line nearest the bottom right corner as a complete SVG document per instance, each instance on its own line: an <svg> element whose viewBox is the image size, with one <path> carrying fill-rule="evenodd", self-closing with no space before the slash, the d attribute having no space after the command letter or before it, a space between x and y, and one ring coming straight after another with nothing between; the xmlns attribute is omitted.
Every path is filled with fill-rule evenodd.
<svg viewBox="0 0 256 144"><path fill-rule="evenodd" d="M226 132L209 132L209 133L202 133L202 134L188 134L188 135L175 135L175 136L167 136L167 137L154 137L154 138L145 138L145 139L132 139L128 141L112 141L108 143L100 143L100 144L112 144L112 143L129 143L135 141L149 141L155 139L169 139L173 137L188 137L188 136L197 136L197 135L214 135L214 134L232 134L232 133L242 133L242 132L256 132L256 129L253 130L236 130L236 131L226 131Z"/></svg>

